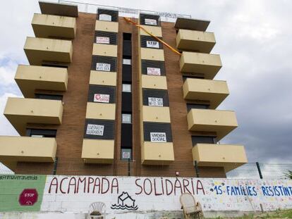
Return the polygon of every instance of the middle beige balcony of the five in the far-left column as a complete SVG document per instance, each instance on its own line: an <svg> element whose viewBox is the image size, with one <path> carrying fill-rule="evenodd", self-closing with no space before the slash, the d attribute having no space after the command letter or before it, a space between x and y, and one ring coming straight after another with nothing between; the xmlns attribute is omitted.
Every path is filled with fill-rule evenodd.
<svg viewBox="0 0 292 219"><path fill-rule="evenodd" d="M67 68L18 65L14 78L26 98L34 98L36 89L65 92L68 85Z"/></svg>

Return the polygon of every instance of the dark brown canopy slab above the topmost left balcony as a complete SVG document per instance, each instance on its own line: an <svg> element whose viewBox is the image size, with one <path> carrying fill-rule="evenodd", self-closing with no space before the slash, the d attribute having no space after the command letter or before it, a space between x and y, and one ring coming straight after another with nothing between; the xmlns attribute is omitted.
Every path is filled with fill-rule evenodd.
<svg viewBox="0 0 292 219"><path fill-rule="evenodd" d="M39 8L44 14L78 17L78 6L75 4L39 1Z"/></svg>

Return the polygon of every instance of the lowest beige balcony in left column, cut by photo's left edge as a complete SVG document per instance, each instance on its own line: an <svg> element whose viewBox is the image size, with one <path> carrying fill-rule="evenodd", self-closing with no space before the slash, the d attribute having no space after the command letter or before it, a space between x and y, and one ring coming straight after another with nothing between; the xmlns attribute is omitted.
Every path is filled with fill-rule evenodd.
<svg viewBox="0 0 292 219"><path fill-rule="evenodd" d="M13 168L21 162L54 162L57 143L52 137L0 136L0 161Z"/></svg>

